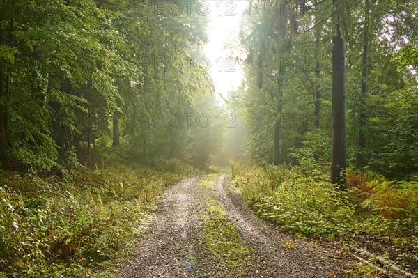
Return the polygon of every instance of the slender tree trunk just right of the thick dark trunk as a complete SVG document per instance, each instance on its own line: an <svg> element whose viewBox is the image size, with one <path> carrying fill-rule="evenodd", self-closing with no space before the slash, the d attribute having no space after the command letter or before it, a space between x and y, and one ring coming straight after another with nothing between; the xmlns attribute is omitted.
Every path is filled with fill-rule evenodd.
<svg viewBox="0 0 418 278"><path fill-rule="evenodd" d="M359 167L364 166L364 155L363 150L366 145L366 137L364 135L365 124L366 124L366 98L368 90L369 75L369 12L370 2L369 0L364 1L364 37L363 37L363 59L362 59L362 94L360 95L360 126L359 126L359 154L357 155L357 164Z"/></svg>

